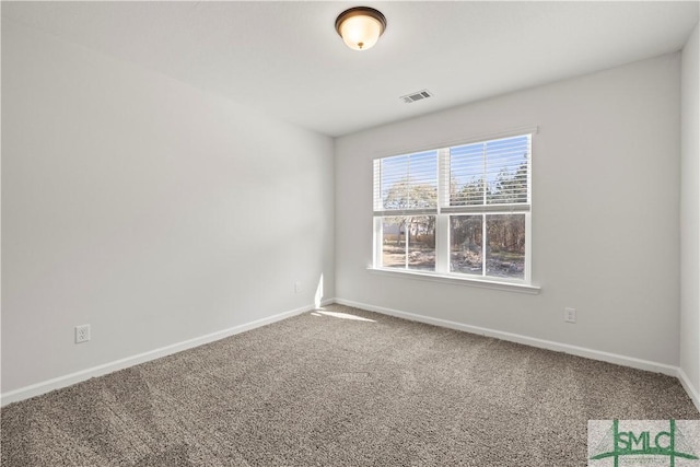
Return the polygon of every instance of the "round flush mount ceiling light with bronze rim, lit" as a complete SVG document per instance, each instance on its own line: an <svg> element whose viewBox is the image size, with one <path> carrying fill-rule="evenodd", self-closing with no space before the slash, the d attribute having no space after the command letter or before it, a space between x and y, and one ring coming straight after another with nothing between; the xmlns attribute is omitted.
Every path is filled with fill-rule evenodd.
<svg viewBox="0 0 700 467"><path fill-rule="evenodd" d="M336 31L348 47L366 50L374 46L386 30L386 17L369 7L346 10L336 19Z"/></svg>

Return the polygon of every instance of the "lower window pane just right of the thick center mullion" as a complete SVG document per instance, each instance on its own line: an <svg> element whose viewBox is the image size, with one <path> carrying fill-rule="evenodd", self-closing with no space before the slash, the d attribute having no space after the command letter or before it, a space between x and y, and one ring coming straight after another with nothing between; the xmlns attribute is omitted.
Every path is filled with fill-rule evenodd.
<svg viewBox="0 0 700 467"><path fill-rule="evenodd" d="M450 218L450 270L481 276L483 215Z"/></svg>

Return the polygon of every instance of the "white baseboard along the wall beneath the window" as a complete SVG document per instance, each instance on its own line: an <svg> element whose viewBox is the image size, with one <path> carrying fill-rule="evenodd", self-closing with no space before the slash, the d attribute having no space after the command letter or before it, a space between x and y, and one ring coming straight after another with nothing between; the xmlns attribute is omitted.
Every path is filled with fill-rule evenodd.
<svg viewBox="0 0 700 467"><path fill-rule="evenodd" d="M504 332L500 330L482 328L478 326L465 325L462 323L451 322L446 319L433 318L424 315L400 312L398 310L385 308L383 306L374 306L366 303L353 302L345 299L336 299L336 303L340 305L354 306L357 308L368 310L384 315L396 316L412 322L425 323L434 326L446 327L450 329L463 330L470 334L494 337L510 342L523 343L525 346L537 347L540 349L553 350L557 352L570 353L572 355L584 357L591 360L599 360L603 362L615 363L622 366L630 366L638 370L645 370L655 373L663 373L668 376L678 376L678 367L664 363L651 362L648 360L635 359L633 357L619 355L616 353L602 352L599 350L587 349L585 347L570 346L568 343L555 342L551 340L537 339L534 337L523 336L520 334ZM692 396L691 396L692 397Z"/></svg>

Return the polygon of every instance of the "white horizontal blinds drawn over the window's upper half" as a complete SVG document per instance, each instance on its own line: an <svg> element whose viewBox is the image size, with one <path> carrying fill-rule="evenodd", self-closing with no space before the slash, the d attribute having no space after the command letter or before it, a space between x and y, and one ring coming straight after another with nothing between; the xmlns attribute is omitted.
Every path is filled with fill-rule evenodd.
<svg viewBox="0 0 700 467"><path fill-rule="evenodd" d="M377 159L374 215L527 212L530 149L522 135Z"/></svg>

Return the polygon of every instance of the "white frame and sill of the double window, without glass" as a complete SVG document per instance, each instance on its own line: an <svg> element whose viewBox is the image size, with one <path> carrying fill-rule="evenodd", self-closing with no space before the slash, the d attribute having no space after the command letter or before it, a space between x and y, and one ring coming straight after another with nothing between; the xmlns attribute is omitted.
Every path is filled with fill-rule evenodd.
<svg viewBox="0 0 700 467"><path fill-rule="evenodd" d="M369 268L374 273L388 275L393 277L405 277L410 279L439 281L446 283L468 284L476 287L483 287L489 289L500 289L525 293L538 293L539 287L533 284L532 277L532 186L533 186L533 147L534 136L537 133L537 127L527 127L515 129L512 131L500 132L498 135L481 136L470 139L463 139L457 141L451 141L440 144L434 144L423 149L413 149L410 151L395 152L393 154L376 157L373 161L376 167L377 161L396 155L413 154L423 151L438 151L438 206L436 209L431 210L411 210L406 211L382 211L381 207L376 206L376 194L373 196L373 261ZM471 206L471 207L451 207L450 206L450 149L458 145L474 144L480 142L489 142L500 139L513 138L518 136L529 137L529 153L528 153L528 171L527 171L527 199L526 205L500 205L494 209L489 209L489 206ZM373 171L373 177L374 177ZM376 183L376 180L374 180ZM374 187L376 189L376 186ZM381 195L380 195L381 196ZM431 211L431 212L428 212ZM523 279L516 278L501 278L486 275L486 255L482 254L483 267L481 275L467 275L460 272L452 272L450 270L450 217L451 215L478 215L486 217L487 214L510 214L522 213L525 215L525 255L524 255L524 271ZM392 215L435 215L435 270L425 271L408 268L389 268L382 267L383 255L383 235L382 224L384 217ZM483 229L486 229L486 218L482 222ZM486 240L486 235L483 235ZM487 242L483 242L482 247L486 248Z"/></svg>

